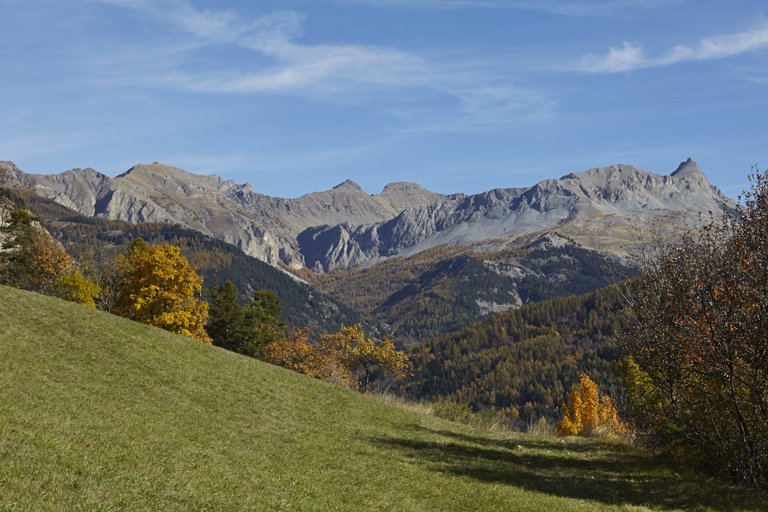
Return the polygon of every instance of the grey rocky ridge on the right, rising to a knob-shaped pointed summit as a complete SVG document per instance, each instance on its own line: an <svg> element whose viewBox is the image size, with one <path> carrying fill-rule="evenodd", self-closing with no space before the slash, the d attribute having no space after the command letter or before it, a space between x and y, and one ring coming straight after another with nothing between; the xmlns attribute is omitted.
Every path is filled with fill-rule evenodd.
<svg viewBox="0 0 768 512"><path fill-rule="evenodd" d="M720 211L734 202L707 181L691 159L669 176L631 165L612 165L544 180L530 188L497 189L468 197L413 206L372 226L315 227L298 237L307 265L329 271L409 255L439 244L472 244L562 228L585 247L598 248L578 222L624 229L634 215L669 216ZM610 220L605 220L610 219ZM618 229L618 228L617 228ZM593 235L590 235L593 236ZM605 248L605 247L603 247Z"/></svg>

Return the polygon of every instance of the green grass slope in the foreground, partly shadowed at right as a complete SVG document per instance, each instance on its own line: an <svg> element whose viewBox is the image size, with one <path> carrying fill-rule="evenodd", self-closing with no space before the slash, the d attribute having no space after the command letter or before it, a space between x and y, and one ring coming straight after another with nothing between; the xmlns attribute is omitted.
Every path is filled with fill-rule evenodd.
<svg viewBox="0 0 768 512"><path fill-rule="evenodd" d="M585 439L495 435L0 287L0 510L765 510Z"/></svg>

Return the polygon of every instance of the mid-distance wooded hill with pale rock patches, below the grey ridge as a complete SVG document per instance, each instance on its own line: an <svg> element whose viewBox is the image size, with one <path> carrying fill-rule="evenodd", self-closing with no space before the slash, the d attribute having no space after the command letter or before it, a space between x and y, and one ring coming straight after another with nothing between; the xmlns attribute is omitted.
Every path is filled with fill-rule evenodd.
<svg viewBox="0 0 768 512"><path fill-rule="evenodd" d="M410 346L493 313L589 293L638 274L556 234L501 251L490 245L441 245L321 274L313 285Z"/></svg>

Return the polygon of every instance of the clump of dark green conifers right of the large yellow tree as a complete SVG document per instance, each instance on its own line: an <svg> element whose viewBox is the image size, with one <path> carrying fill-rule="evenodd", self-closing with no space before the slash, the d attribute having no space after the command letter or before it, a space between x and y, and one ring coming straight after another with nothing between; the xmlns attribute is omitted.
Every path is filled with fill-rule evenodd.
<svg viewBox="0 0 768 512"><path fill-rule="evenodd" d="M254 293L251 303L238 303L237 288L227 280L208 290L211 297L205 330L213 344L251 357L258 357L261 347L285 336L286 324L280 322L280 300L269 290Z"/></svg>

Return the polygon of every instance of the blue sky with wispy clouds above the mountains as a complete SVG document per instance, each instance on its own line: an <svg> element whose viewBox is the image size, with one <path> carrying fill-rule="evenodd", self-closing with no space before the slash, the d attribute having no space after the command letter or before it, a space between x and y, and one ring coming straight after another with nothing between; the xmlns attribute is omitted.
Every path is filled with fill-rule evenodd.
<svg viewBox="0 0 768 512"><path fill-rule="evenodd" d="M0 0L0 160L273 196L768 166L768 2Z"/></svg>

